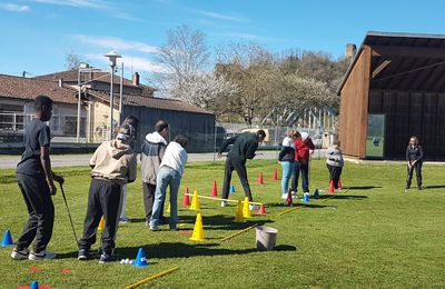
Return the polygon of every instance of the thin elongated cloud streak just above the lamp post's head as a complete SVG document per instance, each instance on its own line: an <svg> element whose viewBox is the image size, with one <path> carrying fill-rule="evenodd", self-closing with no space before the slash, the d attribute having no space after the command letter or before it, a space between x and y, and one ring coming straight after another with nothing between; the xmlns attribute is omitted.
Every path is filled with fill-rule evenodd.
<svg viewBox="0 0 445 289"><path fill-rule="evenodd" d="M144 53L154 53L158 51L157 47L137 41L126 41L123 39L115 37L92 37L92 36L78 34L75 36L75 38L80 42L107 49L134 50Z"/></svg>

